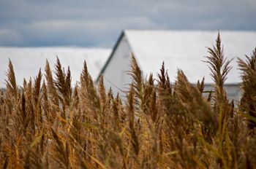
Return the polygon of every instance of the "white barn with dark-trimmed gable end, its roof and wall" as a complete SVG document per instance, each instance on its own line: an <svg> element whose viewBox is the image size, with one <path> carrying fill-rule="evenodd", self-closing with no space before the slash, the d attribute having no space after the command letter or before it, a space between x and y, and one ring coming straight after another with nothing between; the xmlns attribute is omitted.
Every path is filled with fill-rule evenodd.
<svg viewBox="0 0 256 169"><path fill-rule="evenodd" d="M135 55L143 76L153 73L157 77L162 61L172 82L176 79L177 68L187 75L189 82L196 83L205 77L206 87L213 83L204 56L206 47L212 47L217 39L217 31L143 31L126 30L116 42L115 47L102 68L106 87L111 87L114 94L126 90L131 82L127 75L131 53ZM233 67L227 76L226 87L230 98L239 97L238 84L241 82L236 58L245 58L256 47L255 31L220 31L225 57L234 58Z"/></svg>

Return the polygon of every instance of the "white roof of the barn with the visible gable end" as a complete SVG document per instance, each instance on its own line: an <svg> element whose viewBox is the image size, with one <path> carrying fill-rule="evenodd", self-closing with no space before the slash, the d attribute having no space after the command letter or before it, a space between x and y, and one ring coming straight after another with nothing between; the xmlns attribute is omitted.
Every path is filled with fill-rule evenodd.
<svg viewBox="0 0 256 169"><path fill-rule="evenodd" d="M212 47L217 39L217 31L142 31L127 30L124 35L143 74L156 75L165 61L165 68L172 80L177 68L181 68L190 82L197 82L205 76L211 83L210 71L202 60L208 55L206 47ZM241 82L236 58L245 58L256 47L256 31L220 31L225 57L234 58L227 83Z"/></svg>

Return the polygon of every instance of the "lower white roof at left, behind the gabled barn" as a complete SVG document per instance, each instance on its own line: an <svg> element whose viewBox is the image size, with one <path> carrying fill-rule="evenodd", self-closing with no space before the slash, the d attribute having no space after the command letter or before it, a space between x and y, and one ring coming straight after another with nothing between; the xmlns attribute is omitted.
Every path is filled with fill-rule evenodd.
<svg viewBox="0 0 256 169"><path fill-rule="evenodd" d="M45 74L45 62L48 59L50 67L54 70L56 56L67 71L69 66L72 84L80 80L83 61L86 60L89 73L95 80L102 66L110 55L109 49L82 48L82 47L0 47L0 87L5 86L6 71L9 58L15 69L16 80L23 84L23 78L29 79L37 76L39 68Z"/></svg>

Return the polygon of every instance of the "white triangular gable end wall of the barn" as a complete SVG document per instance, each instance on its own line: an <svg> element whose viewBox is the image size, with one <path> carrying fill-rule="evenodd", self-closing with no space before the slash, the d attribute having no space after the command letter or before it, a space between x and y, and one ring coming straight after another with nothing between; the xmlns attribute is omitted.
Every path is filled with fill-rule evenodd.
<svg viewBox="0 0 256 169"><path fill-rule="evenodd" d="M121 37L121 41L116 47L108 66L106 66L104 75L105 87L108 90L110 87L113 94L119 93L122 97L125 93L121 90L127 90L127 84L131 82L127 71L129 71L129 63L131 60L132 50L129 47L126 36Z"/></svg>

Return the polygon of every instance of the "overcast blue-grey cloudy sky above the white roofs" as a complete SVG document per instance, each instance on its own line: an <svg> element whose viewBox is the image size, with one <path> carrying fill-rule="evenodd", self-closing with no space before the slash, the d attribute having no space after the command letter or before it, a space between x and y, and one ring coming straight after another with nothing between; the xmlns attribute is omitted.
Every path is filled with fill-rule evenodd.
<svg viewBox="0 0 256 169"><path fill-rule="evenodd" d="M113 47L127 28L256 31L256 0L0 0L0 46Z"/></svg>

